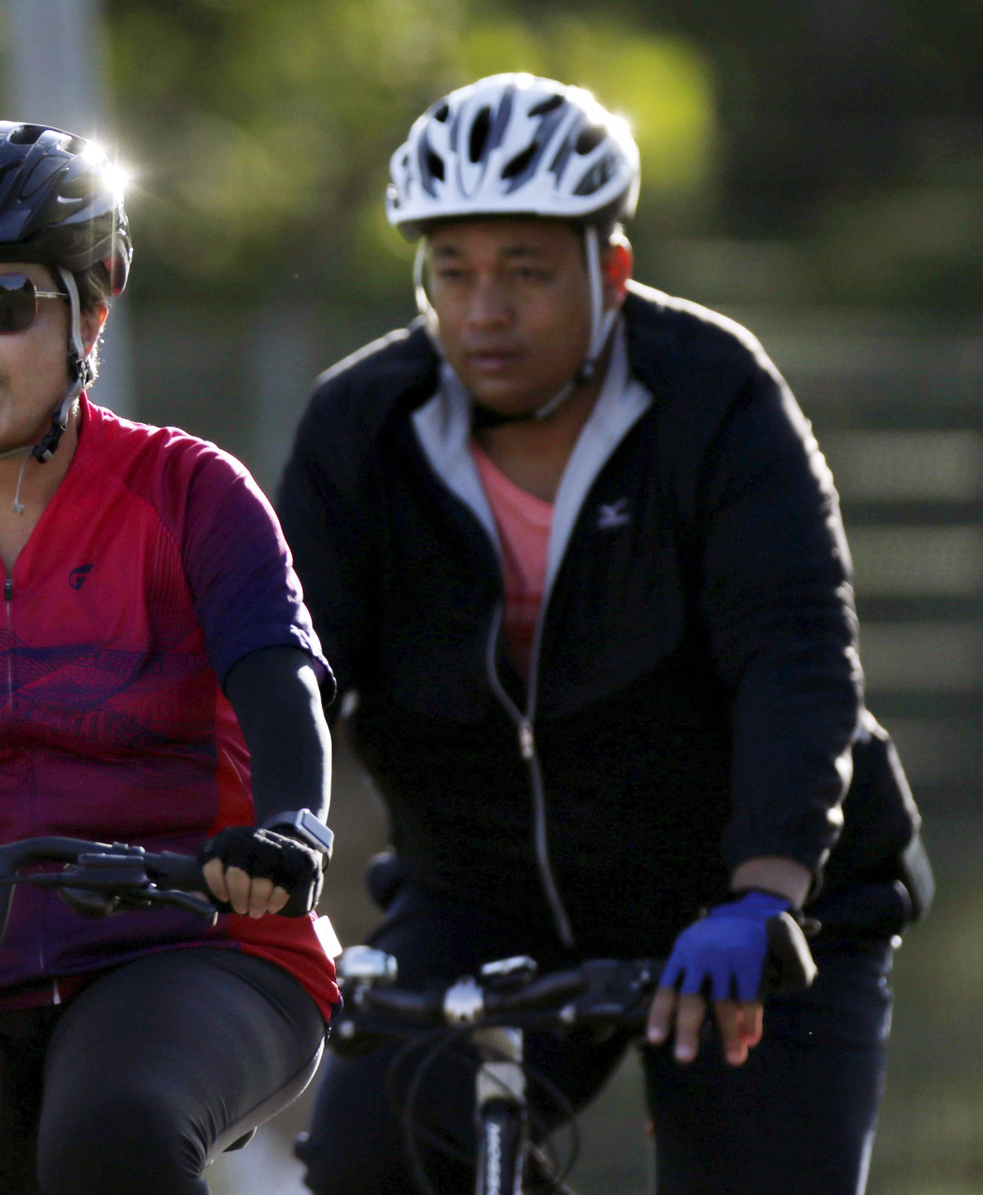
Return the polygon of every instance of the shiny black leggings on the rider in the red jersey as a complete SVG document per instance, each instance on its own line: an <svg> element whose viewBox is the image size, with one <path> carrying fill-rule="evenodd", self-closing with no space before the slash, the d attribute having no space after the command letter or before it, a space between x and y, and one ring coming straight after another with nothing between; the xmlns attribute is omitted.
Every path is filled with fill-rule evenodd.
<svg viewBox="0 0 983 1195"><path fill-rule="evenodd" d="M211 948L0 1013L0 1190L207 1195L205 1165L300 1093L322 1038L291 975Z"/></svg>

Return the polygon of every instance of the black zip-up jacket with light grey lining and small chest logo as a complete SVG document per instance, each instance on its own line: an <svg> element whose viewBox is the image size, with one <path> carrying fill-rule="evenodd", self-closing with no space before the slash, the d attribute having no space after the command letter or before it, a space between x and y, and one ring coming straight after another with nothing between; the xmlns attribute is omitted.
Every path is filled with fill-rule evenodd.
<svg viewBox="0 0 983 1195"><path fill-rule="evenodd" d="M528 687L467 399L422 326L322 375L279 513L405 870L637 955L745 859L818 880L833 851L828 891L893 878L917 813L862 712L836 494L784 380L658 292L632 284L622 325L557 497Z"/></svg>

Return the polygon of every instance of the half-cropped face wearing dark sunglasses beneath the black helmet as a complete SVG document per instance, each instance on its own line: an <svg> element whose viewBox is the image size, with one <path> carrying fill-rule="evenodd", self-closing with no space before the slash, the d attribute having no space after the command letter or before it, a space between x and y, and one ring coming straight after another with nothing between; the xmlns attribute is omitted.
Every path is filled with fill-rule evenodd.
<svg viewBox="0 0 983 1195"><path fill-rule="evenodd" d="M26 275L38 290L63 290L60 278L33 262L0 262L0 274ZM39 299L24 332L0 335L0 452L36 442L68 387L67 299ZM82 314L82 347L99 335L103 312Z"/></svg>

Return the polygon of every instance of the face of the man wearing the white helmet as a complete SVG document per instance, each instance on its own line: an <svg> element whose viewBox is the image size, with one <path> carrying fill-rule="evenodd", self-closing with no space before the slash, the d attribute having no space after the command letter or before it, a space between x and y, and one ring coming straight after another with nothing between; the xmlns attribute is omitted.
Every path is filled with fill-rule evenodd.
<svg viewBox="0 0 983 1195"><path fill-rule="evenodd" d="M490 219L430 234L430 298L454 372L485 406L535 410L590 343L583 240L551 220Z"/></svg>

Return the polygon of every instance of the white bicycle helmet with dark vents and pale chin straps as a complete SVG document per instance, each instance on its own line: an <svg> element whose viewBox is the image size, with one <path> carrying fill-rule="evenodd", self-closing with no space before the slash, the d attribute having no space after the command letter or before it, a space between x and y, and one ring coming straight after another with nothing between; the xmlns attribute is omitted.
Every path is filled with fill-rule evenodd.
<svg viewBox="0 0 983 1195"><path fill-rule="evenodd" d="M558 394L523 418L552 415L594 375L618 317L603 310L598 228L631 219L638 206L639 154L627 122L582 87L530 74L491 75L429 108L389 170L387 216L410 239L468 216L526 215L583 226L591 295L588 355ZM422 241L417 305L437 341L423 269Z"/></svg>

